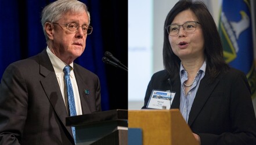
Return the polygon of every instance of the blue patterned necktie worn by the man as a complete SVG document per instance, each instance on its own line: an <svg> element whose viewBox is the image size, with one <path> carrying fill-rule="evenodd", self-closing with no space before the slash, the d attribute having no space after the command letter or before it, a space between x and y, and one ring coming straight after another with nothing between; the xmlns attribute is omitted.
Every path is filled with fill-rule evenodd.
<svg viewBox="0 0 256 145"><path fill-rule="evenodd" d="M64 77L66 81L66 86L67 86L67 100L68 100L68 106L69 106L69 111L70 111L70 116L76 116L77 111L75 110L75 99L74 99L74 93L70 81L70 68L71 66L67 65L64 67L63 72L64 72ZM75 127L71 127L74 140L75 140Z"/></svg>

